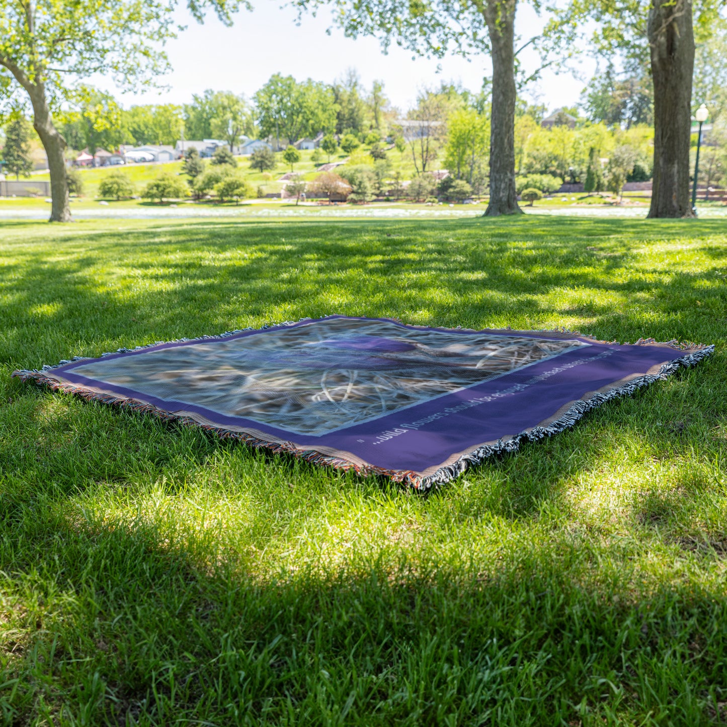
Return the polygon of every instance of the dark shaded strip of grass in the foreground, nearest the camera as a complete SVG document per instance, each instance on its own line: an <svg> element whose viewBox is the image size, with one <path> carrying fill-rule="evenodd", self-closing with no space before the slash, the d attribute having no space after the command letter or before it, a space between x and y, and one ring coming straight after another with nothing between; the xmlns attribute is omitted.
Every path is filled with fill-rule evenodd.
<svg viewBox="0 0 727 727"><path fill-rule="evenodd" d="M480 572L414 558L256 577L154 523L23 508L0 541L20 562L44 545L32 577L2 582L17 688L0 705L18 723L706 725L724 700L720 593L635 590L562 534Z"/></svg>

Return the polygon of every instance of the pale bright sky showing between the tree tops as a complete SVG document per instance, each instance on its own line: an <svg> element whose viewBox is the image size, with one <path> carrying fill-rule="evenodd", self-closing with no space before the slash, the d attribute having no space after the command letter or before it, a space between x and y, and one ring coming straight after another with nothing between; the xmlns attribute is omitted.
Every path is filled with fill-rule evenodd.
<svg viewBox="0 0 727 727"><path fill-rule="evenodd" d="M412 57L411 52L398 47L390 47L385 55L377 39L349 39L337 28L326 33L332 25L327 10L319 17L305 16L297 25L296 11L281 8L280 0L253 0L253 4L252 12L241 10L235 15L231 28L222 25L214 15L199 25L186 10L180 11L179 21L187 29L166 47L173 71L162 82L169 88L121 95L119 100L124 107L136 103L189 103L193 94L208 88L252 97L273 73L291 75L299 81L310 77L332 83L347 68L355 68L366 88L371 87L374 79L384 81L387 97L404 111L414 105L418 89L455 81L476 91L483 77L491 73L486 55L470 61L454 56L428 60ZM521 37L529 39L541 26L542 20L534 10L521 4L516 25ZM523 63L528 71L534 70L537 55L528 54L526 49ZM529 89L531 100L544 103L550 111L577 103L595 69L593 61L587 58L579 65L580 79L570 73L545 73ZM115 90L103 81L97 85Z"/></svg>

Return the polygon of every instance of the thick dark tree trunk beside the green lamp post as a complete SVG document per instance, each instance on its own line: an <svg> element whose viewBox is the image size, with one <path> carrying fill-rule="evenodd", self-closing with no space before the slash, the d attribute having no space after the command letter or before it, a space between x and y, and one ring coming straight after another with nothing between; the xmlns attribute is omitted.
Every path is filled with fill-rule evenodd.
<svg viewBox="0 0 727 727"><path fill-rule="evenodd" d="M689 199L691 0L652 0L648 43L654 79L654 189L648 217L693 217Z"/></svg>

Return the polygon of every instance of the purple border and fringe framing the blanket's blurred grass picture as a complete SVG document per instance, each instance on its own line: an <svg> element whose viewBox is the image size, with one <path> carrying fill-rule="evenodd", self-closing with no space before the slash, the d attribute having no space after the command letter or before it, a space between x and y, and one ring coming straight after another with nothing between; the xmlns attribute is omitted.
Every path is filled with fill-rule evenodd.
<svg viewBox="0 0 727 727"><path fill-rule="evenodd" d="M122 348L100 357L76 357L72 361L61 361L56 366L44 366L40 371L14 371L12 376L23 380L33 379L41 385L85 398L148 411L165 419L178 419L189 425L213 430L222 437L241 439L252 446L289 451L311 462L352 468L362 475L389 475L394 481L424 490L451 480L485 457L518 449L523 439L534 441L562 431L574 425L586 411L604 401L632 393L656 379L666 378L680 366L696 364L714 350L712 345L679 344L676 341L656 343L651 339L640 340L632 345L617 345L565 330L483 329L496 335L569 339L588 345L374 421L315 436L293 434L241 417L225 417L201 406L163 401L73 374L74 367L98 358L133 356L150 350L241 338L271 329L314 324L328 318L385 321L406 329L435 330L465 336L480 333L473 329L409 326L391 318L335 315L304 318L220 336L157 342L134 349ZM59 375L65 382L55 378ZM478 407L483 403L488 406L486 420L477 416ZM170 411L175 404L179 405L178 408ZM438 430L438 421L445 417L449 427L446 431ZM406 441L406 449L401 446L402 438Z"/></svg>

